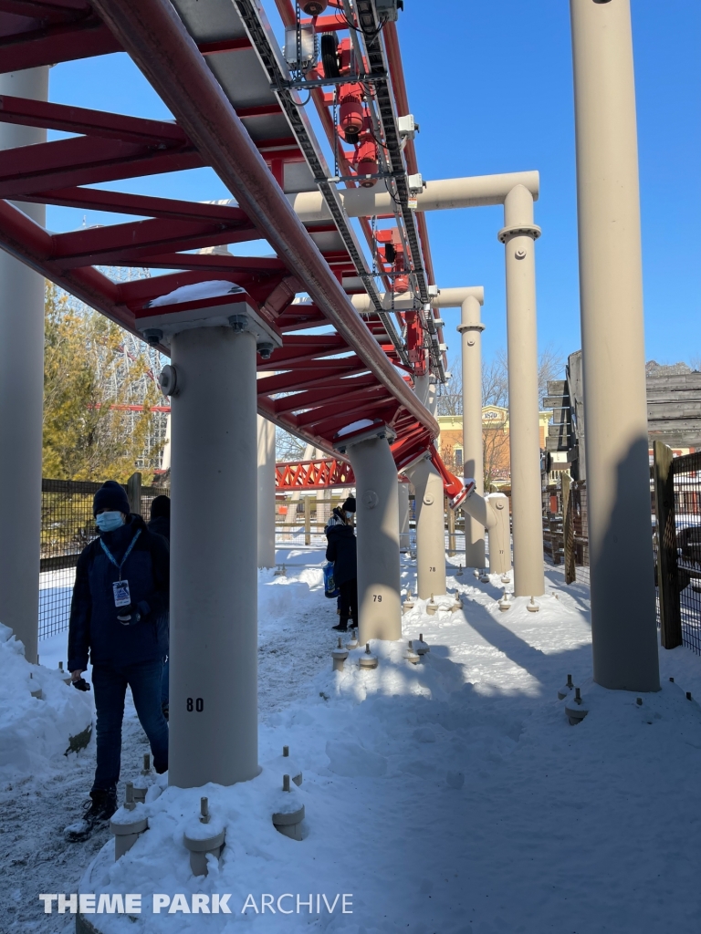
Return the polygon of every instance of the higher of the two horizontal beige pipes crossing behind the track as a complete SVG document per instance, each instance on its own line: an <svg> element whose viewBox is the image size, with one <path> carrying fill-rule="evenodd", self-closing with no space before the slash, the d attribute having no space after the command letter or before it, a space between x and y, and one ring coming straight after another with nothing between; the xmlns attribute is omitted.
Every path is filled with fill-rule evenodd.
<svg viewBox="0 0 701 934"><path fill-rule="evenodd" d="M540 178L537 172L508 172L503 175L444 178L427 181L416 198L417 211L442 211L461 207L503 205L508 192L523 185L537 200ZM350 218L370 218L393 214L395 203L382 186L375 189L339 189L346 214ZM330 220L331 212L320 191L299 191L287 199L303 223Z"/></svg>

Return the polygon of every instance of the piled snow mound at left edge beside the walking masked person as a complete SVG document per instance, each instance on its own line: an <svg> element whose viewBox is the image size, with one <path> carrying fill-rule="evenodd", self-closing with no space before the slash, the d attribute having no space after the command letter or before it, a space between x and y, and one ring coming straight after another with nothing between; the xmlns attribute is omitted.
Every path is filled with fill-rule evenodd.
<svg viewBox="0 0 701 934"><path fill-rule="evenodd" d="M50 759L89 742L93 702L64 684L65 676L30 664L0 623L0 779L42 771Z"/></svg>

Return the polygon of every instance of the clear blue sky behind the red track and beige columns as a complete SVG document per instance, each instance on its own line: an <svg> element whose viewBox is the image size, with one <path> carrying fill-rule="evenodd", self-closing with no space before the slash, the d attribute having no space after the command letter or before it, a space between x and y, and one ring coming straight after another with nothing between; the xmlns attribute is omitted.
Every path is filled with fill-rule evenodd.
<svg viewBox="0 0 701 934"><path fill-rule="evenodd" d="M273 7L266 0L266 8ZM701 3L632 0L637 80L647 357L701 357ZM271 20L274 16L271 13ZM405 0L399 21L408 96L421 124L424 178L537 169L538 342L579 347L579 283L572 66L568 4ZM50 97L62 103L167 118L124 55L57 65ZM209 170L106 185L170 197L227 197ZM54 230L76 212L50 208ZM94 212L88 223L105 222ZM506 343L504 248L498 207L428 215L438 285L483 285L484 352ZM446 311L450 356L458 312Z"/></svg>

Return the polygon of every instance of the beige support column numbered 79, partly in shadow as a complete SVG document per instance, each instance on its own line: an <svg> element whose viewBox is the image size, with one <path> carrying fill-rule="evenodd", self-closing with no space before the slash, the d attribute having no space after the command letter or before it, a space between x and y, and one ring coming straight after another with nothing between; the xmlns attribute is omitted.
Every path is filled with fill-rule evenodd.
<svg viewBox="0 0 701 934"><path fill-rule="evenodd" d="M358 613L361 643L401 639L399 498L396 467L386 438L351 445L358 535Z"/></svg>

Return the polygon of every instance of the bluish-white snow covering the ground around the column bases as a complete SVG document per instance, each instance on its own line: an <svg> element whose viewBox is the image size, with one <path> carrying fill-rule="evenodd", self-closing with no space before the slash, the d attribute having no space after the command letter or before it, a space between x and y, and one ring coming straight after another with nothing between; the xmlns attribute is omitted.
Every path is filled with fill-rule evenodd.
<svg viewBox="0 0 701 934"><path fill-rule="evenodd" d="M373 643L376 671L360 650L331 671L335 601L323 596L322 555L290 551L286 575L260 573L261 775L233 788L207 787L226 826L219 867L195 879L182 828L200 789L166 789L150 801L150 829L119 863L112 843L97 856L85 891L141 892L144 913L95 916L122 931L295 931L348 934L665 934L694 930L701 894L701 658L661 650L662 690L636 696L591 681L588 588L565 587L548 566L540 611L523 599L501 612L504 585L471 571L451 574L464 609L404 616L405 639L421 632L431 651L413 667L404 644ZM459 557L451 563L457 567ZM414 562L403 584L415 582ZM511 589L508 585L508 589ZM42 644L42 660L46 650ZM48 646L47 646L48 648ZM557 689L572 673L590 714L571 727ZM671 683L670 676L675 678ZM305 839L272 826L281 746L304 772L293 796L306 808ZM122 778L145 748L130 707ZM75 892L107 839L65 844L59 828L77 813L92 779L93 748L0 794L5 934L70 929L44 915L39 892ZM9 814L8 814L9 809ZM7 837L5 838L7 841ZM15 865L11 865L14 860ZM231 893L232 914L150 913L152 893ZM260 913L262 895L303 899L301 913ZM352 913L329 914L352 896ZM309 894L312 913L304 904ZM249 908L241 914L247 897ZM146 898L148 896L148 898ZM282 908L294 908L294 899ZM3 927L5 924L6 927Z"/></svg>

